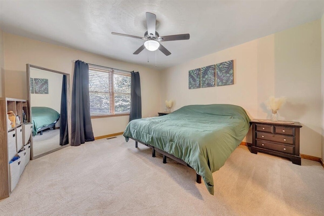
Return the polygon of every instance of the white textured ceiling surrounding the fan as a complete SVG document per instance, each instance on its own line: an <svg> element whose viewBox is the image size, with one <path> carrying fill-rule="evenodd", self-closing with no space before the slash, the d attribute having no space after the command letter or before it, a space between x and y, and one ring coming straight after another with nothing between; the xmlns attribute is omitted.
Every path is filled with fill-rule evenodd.
<svg viewBox="0 0 324 216"><path fill-rule="evenodd" d="M111 34L144 36L145 12L156 14L160 36L190 33L189 40L161 42L172 53L165 56L156 51L156 69L164 69L320 19L324 0L0 0L0 27L5 32L155 68L155 52L133 55L144 40Z"/></svg>

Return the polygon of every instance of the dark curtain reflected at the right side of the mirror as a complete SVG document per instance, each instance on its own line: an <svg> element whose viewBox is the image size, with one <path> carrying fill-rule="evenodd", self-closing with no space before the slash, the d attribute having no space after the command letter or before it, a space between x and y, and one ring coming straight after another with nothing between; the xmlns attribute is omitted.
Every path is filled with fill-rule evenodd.
<svg viewBox="0 0 324 216"><path fill-rule="evenodd" d="M67 100L66 100L66 75L62 79L61 93L61 112L60 112L60 145L64 146L69 143L69 135L67 129Z"/></svg>

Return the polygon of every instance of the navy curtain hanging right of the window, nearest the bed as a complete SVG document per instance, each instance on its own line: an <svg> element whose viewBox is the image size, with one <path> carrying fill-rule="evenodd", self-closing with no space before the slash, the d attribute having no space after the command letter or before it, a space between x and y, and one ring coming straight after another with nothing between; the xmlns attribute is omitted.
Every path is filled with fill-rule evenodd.
<svg viewBox="0 0 324 216"><path fill-rule="evenodd" d="M130 121L142 118L141 80L139 72L131 72Z"/></svg>

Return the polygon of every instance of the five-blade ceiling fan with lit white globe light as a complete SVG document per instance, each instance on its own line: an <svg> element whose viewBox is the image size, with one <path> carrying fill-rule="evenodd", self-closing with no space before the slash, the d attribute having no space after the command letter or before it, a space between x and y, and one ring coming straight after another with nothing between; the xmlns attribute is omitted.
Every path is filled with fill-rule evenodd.
<svg viewBox="0 0 324 216"><path fill-rule="evenodd" d="M190 34L159 36L159 34L155 31L156 15L149 12L146 12L146 24L147 24L147 31L144 33L144 37L139 37L139 36L134 36L129 34L121 34L116 32L111 32L111 34L126 36L126 37L134 37L134 38L145 40L144 44L133 53L135 55L139 54L146 48L149 51L155 51L159 49L166 56L169 56L171 53L164 46L162 46L160 42L170 41L170 40L187 40L190 38Z"/></svg>

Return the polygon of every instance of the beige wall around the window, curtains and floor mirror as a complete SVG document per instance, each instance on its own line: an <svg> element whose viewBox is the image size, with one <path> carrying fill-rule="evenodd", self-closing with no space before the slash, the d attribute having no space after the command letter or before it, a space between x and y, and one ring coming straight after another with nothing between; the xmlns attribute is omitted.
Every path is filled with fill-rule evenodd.
<svg viewBox="0 0 324 216"><path fill-rule="evenodd" d="M159 108L159 72L143 66L120 62L87 52L60 47L46 42L32 40L14 34L4 33L4 55L6 97L26 99L26 64L37 65L72 74L72 60L118 68L128 71L139 71L141 74L142 116L157 115ZM109 49L109 48L107 48ZM95 137L123 132L129 116L92 119Z"/></svg>

